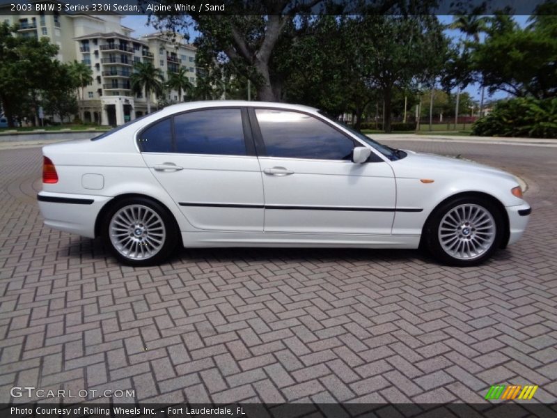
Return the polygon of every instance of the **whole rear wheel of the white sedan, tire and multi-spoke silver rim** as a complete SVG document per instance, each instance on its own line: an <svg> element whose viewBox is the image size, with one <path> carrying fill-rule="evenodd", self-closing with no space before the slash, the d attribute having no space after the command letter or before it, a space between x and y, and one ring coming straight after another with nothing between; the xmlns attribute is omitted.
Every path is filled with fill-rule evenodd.
<svg viewBox="0 0 557 418"><path fill-rule="evenodd" d="M178 225L156 201L130 197L113 205L102 220L102 240L126 265L157 265L178 242Z"/></svg>

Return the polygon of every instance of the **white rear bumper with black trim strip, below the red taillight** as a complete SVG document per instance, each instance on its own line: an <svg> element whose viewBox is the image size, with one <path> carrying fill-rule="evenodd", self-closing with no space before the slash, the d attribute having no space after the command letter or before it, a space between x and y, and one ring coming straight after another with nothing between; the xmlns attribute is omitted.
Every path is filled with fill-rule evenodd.
<svg viewBox="0 0 557 418"><path fill-rule="evenodd" d="M90 194L39 192L37 195L45 226L88 238L95 238L95 220L110 199Z"/></svg>

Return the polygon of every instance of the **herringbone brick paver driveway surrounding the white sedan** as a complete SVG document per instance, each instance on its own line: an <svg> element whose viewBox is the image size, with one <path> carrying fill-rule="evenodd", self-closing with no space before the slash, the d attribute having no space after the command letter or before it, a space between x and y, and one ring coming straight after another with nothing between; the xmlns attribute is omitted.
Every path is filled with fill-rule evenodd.
<svg viewBox="0 0 557 418"><path fill-rule="evenodd" d="M0 402L14 385L141 402L481 402L496 383L556 401L557 148L389 144L524 178L524 238L466 269L354 249L183 250L127 268L42 228L40 149L1 151Z"/></svg>

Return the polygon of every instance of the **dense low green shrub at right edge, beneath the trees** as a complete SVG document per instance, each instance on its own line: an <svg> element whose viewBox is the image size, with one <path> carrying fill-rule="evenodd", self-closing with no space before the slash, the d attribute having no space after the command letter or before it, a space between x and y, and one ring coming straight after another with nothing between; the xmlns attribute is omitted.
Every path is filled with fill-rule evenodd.
<svg viewBox="0 0 557 418"><path fill-rule="evenodd" d="M557 98L514 98L499 102L472 125L481 137L557 138Z"/></svg>

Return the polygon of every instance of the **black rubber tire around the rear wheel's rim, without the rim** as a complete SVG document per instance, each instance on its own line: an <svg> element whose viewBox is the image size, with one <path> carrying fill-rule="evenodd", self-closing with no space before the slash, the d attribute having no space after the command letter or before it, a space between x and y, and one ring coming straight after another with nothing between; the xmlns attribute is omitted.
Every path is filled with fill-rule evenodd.
<svg viewBox="0 0 557 418"><path fill-rule="evenodd" d="M166 231L166 239L160 251L150 258L146 258L143 260L133 260L127 258L120 254L118 250L113 246L110 240L110 232L109 226L112 217L118 210L123 208L124 206L130 205L143 205L147 206L148 208L155 210L157 214L161 217L162 222L164 222L164 229ZM157 201L152 199L148 199L146 197L127 197L124 199L119 200L115 204L111 206L111 208L107 211L104 215L104 219L102 219L102 240L104 242L105 247L109 248L111 253L118 258L118 261L125 265L131 266L146 266L146 265L156 265L164 261L168 256L171 255L172 251L175 249L176 244L178 242L178 226L176 225L175 219L171 212L162 206Z"/></svg>

